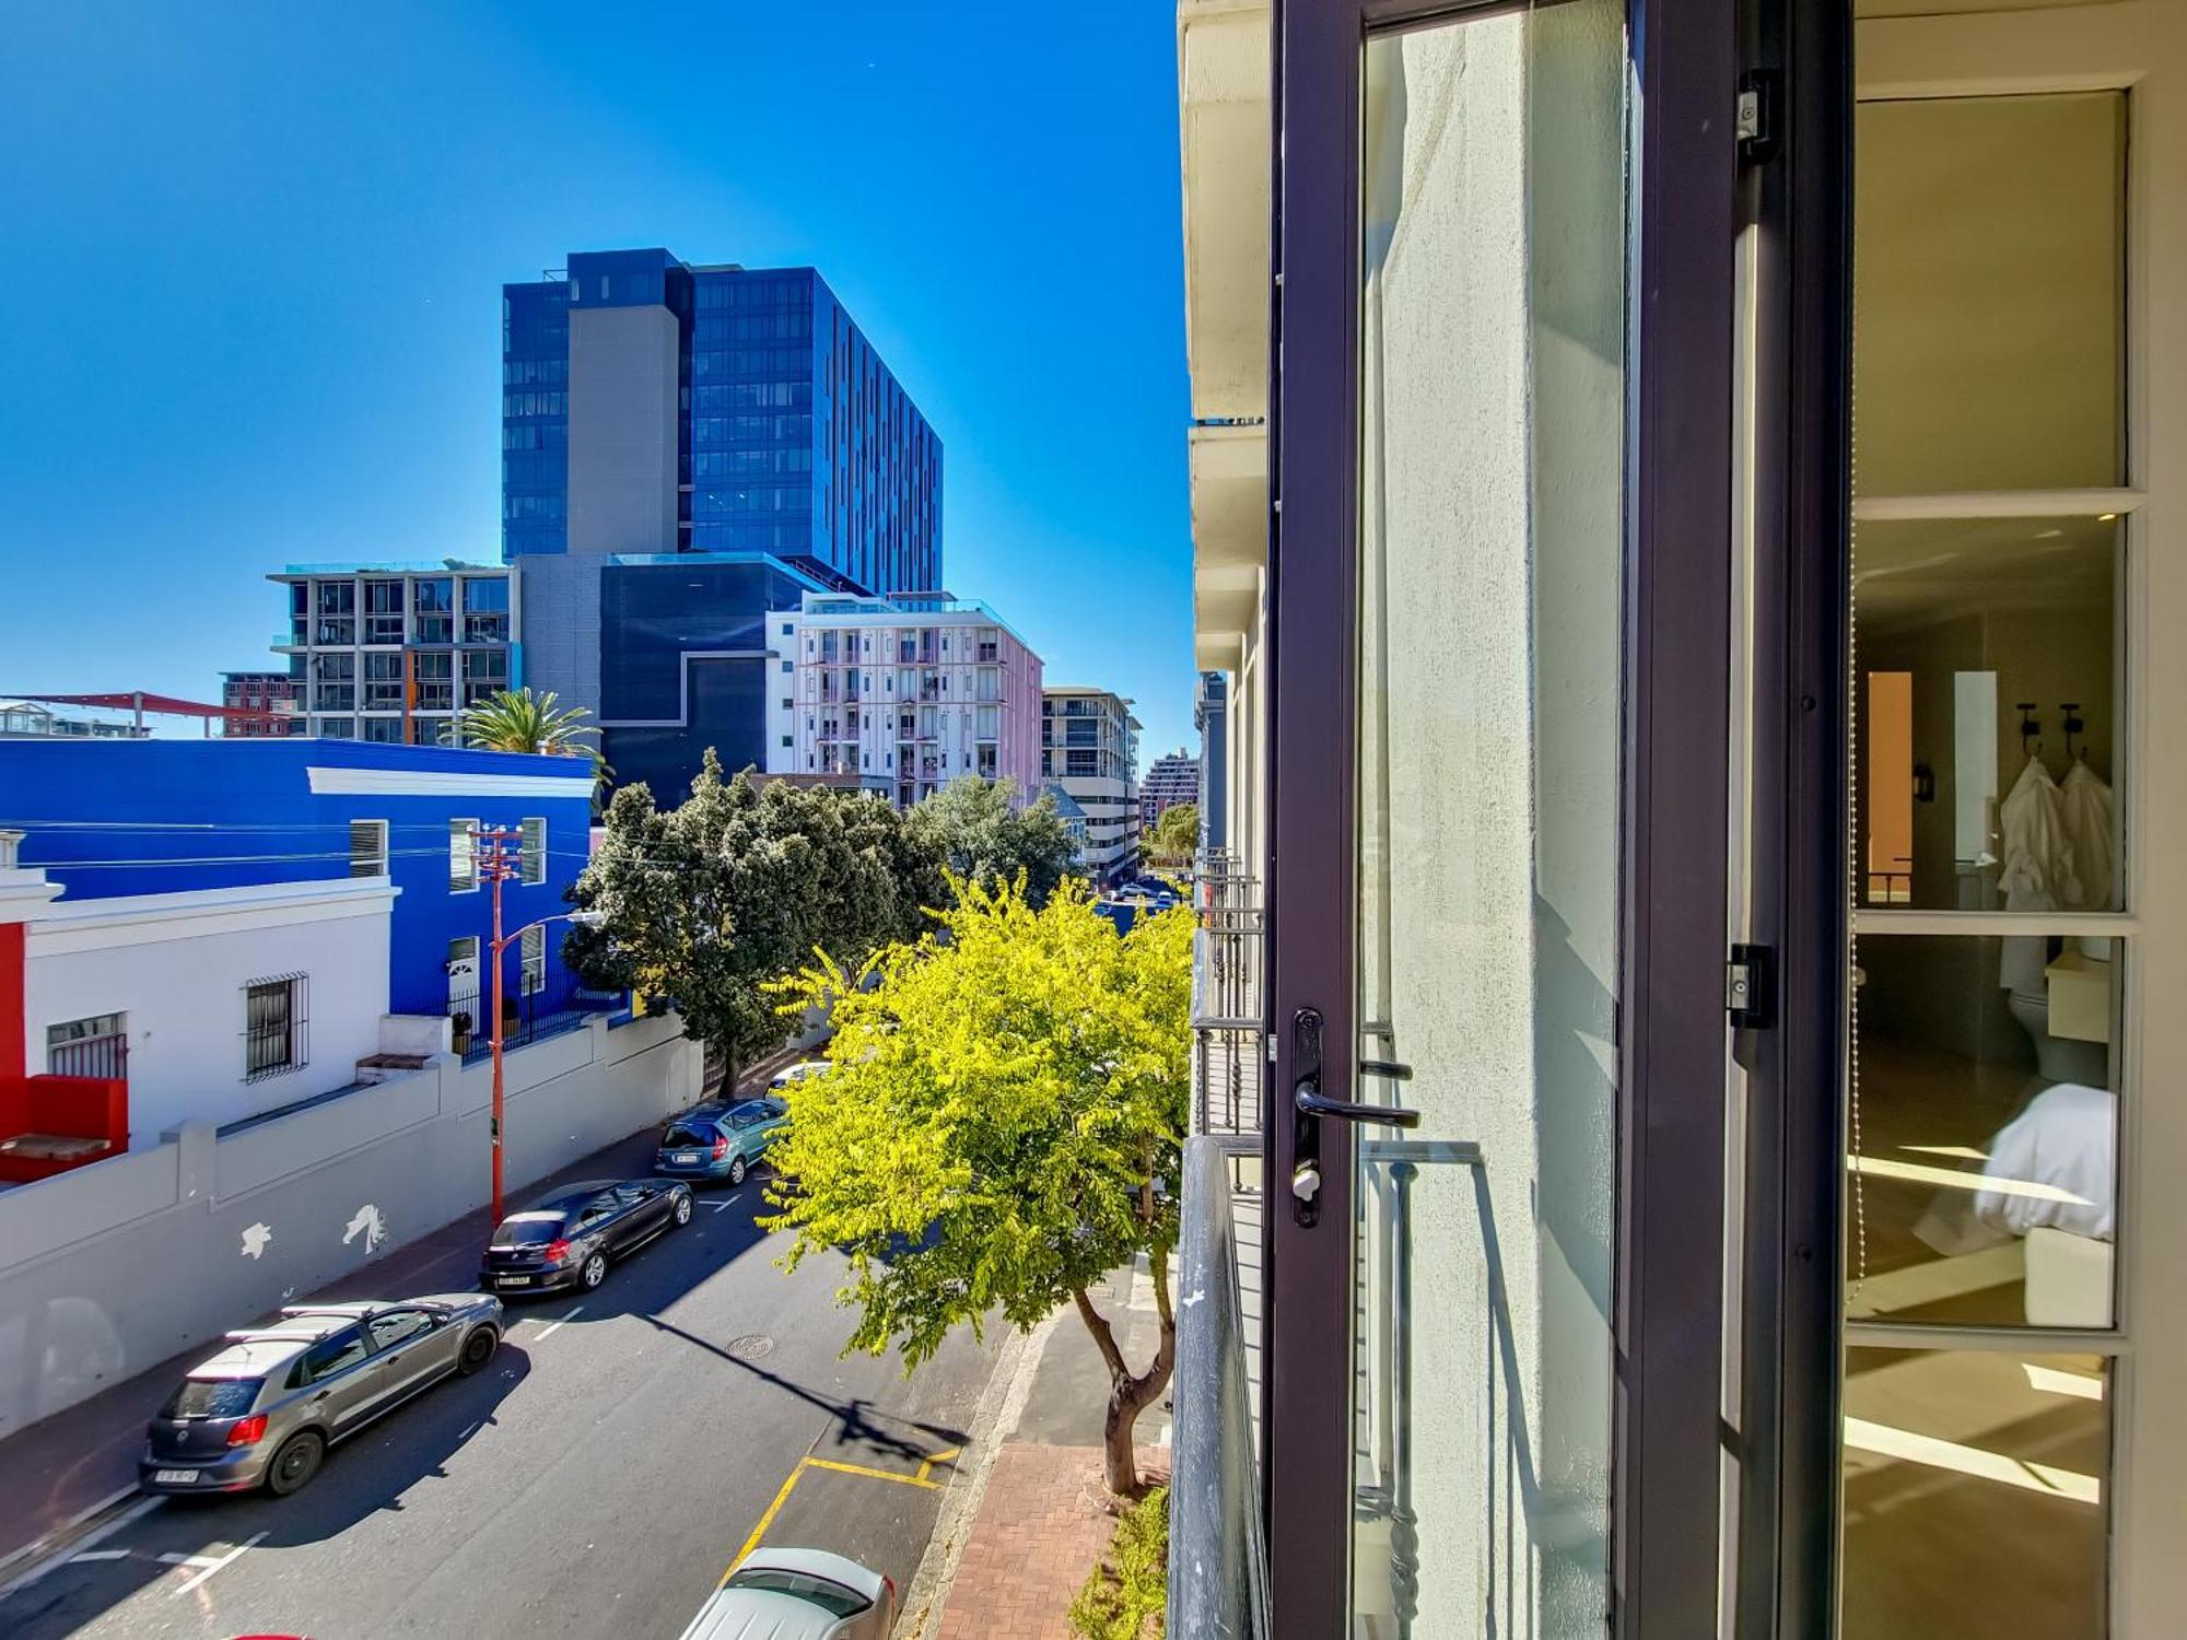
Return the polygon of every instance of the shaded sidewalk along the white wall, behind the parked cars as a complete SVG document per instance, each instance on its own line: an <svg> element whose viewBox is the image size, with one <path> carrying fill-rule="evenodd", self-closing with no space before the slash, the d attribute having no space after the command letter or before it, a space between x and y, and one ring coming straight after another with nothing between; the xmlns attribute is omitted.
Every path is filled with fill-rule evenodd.
<svg viewBox="0 0 2187 1640"><path fill-rule="evenodd" d="M741 1089L765 1087L781 1065L811 1050L787 1050L761 1061L739 1078ZM553 1176L525 1185L514 1192L514 1198L529 1200L575 1179L645 1174L652 1168L654 1131L656 1126L647 1124ZM486 1157L479 1159L479 1165L486 1165ZM481 1207L350 1270L317 1292L302 1295L300 1301L468 1292L477 1284L479 1249L492 1229L492 1211ZM234 1325L243 1327L249 1321L252 1316L236 1316ZM136 1459L144 1443L144 1419L166 1399L175 1380L210 1354L210 1343L162 1360L0 1441L0 1581L20 1572L55 1542L72 1535L87 1518L136 1491Z"/></svg>

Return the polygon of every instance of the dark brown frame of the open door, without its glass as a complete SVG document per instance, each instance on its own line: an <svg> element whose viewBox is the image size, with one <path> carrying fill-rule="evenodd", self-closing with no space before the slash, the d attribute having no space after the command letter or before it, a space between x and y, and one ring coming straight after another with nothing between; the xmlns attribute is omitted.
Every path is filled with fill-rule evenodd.
<svg viewBox="0 0 2187 1640"><path fill-rule="evenodd" d="M1360 48L1452 13L1277 0L1268 643L1266 1522L1279 1640L1345 1633L1352 1533L1352 1131L1319 1124L1319 1225L1299 1161L1288 1021L1323 1017L1323 1089L1354 1087L1356 722L1345 621L1358 520ZM1717 1627L1723 1332L1726 759L1730 687L1734 0L1632 0L1636 206L1627 485L1625 969L1612 1631ZM1295 772L1295 774L1293 774Z"/></svg>

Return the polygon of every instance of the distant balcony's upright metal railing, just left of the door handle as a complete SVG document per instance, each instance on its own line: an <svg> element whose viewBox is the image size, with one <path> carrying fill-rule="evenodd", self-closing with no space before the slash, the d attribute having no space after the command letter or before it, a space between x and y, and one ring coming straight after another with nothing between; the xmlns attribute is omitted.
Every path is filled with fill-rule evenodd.
<svg viewBox="0 0 2187 1640"><path fill-rule="evenodd" d="M1262 1128L1260 881L1223 848L1192 872L1201 932L1192 953L1192 1131Z"/></svg>

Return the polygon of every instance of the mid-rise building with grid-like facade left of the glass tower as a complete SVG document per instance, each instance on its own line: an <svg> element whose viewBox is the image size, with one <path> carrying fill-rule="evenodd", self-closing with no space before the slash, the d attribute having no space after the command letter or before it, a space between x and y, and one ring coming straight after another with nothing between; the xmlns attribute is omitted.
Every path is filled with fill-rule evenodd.
<svg viewBox="0 0 2187 1640"><path fill-rule="evenodd" d="M437 746L466 708L518 682L514 582L501 564L291 564L291 656L306 735Z"/></svg>

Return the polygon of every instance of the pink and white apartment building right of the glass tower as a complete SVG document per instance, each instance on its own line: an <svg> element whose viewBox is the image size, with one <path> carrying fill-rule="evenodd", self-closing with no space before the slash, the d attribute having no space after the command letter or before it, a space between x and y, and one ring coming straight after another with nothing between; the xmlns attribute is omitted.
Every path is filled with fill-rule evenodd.
<svg viewBox="0 0 2187 1640"><path fill-rule="evenodd" d="M1041 658L986 604L807 593L768 643L770 774L855 776L899 809L964 776L1039 794Z"/></svg>

